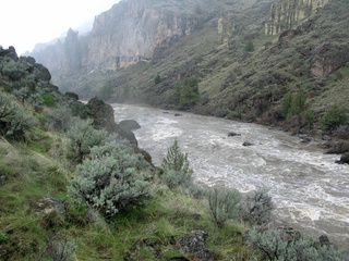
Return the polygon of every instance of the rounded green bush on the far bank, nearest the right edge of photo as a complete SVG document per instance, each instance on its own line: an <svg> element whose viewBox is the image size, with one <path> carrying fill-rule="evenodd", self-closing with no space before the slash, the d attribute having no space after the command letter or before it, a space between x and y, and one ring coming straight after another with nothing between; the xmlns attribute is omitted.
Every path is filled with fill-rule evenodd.
<svg viewBox="0 0 349 261"><path fill-rule="evenodd" d="M338 105L333 105L323 116L321 121L322 129L325 132L334 130L340 124L346 123L346 109Z"/></svg>

